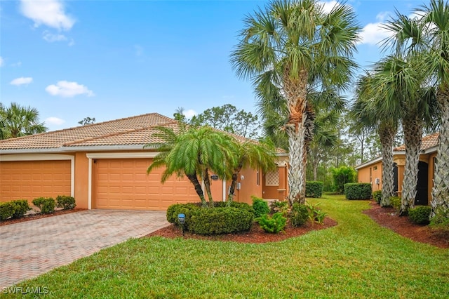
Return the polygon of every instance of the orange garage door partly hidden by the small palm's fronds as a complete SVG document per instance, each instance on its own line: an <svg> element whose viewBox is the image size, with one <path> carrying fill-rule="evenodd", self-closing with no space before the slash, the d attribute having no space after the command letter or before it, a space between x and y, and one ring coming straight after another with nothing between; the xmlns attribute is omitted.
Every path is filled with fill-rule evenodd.
<svg viewBox="0 0 449 299"><path fill-rule="evenodd" d="M152 159L93 161L93 208L166 210L171 204L198 201L192 183L176 175L163 184L163 168L147 175Z"/></svg>

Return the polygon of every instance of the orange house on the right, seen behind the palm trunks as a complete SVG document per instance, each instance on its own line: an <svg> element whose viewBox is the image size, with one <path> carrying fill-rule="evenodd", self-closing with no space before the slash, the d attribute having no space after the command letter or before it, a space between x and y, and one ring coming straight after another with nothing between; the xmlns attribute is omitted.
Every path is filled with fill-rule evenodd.
<svg viewBox="0 0 449 299"><path fill-rule="evenodd" d="M424 136L421 143L418 164L418 182L415 204L429 205L434 183L436 152L438 150L438 133ZM406 165L406 147L401 145L393 150L394 187L401 196L404 166ZM382 190L382 157L356 166L358 182L370 182L373 191Z"/></svg>

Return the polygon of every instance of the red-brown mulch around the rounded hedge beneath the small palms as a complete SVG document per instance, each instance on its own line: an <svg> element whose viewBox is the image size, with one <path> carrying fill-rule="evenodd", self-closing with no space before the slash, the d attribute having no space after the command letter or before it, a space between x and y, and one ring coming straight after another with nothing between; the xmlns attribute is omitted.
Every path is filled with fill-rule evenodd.
<svg viewBox="0 0 449 299"><path fill-rule="evenodd" d="M234 241L241 243L267 243L267 242L276 242L285 240L291 237L297 237L302 234L306 234L312 230L324 230L328 227L333 227L337 225L335 220L330 218L326 218L322 225L314 224L314 225L304 225L304 227L292 227L290 224L286 225L284 232L280 232L279 234L269 234L264 232L260 225L253 225L249 232L239 232L236 234L220 234L214 236L202 236L199 234L191 234L189 232L185 232L184 236L182 235L181 230L175 225L170 225L169 227L164 227L161 230L157 230L156 232L152 232L151 234L147 234L145 237L166 237L166 238L177 238L182 237L184 239L202 239L202 240L213 240L213 241Z"/></svg>

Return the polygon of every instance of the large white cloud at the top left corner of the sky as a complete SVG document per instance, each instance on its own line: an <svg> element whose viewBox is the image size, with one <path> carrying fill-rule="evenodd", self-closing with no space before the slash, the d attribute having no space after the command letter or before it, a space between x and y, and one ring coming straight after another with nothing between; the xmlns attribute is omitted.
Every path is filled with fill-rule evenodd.
<svg viewBox="0 0 449 299"><path fill-rule="evenodd" d="M75 20L65 13L60 0L20 0L20 12L34 21L34 27L46 25L59 30L69 30L75 23Z"/></svg>

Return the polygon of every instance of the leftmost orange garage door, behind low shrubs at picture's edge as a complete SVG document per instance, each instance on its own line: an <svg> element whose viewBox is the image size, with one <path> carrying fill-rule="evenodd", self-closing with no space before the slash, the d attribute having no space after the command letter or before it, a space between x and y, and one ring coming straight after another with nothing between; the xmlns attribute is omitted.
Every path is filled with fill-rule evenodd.
<svg viewBox="0 0 449 299"><path fill-rule="evenodd" d="M70 195L70 161L2 161L0 199Z"/></svg>

